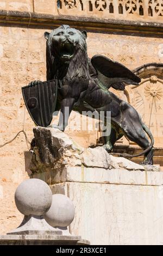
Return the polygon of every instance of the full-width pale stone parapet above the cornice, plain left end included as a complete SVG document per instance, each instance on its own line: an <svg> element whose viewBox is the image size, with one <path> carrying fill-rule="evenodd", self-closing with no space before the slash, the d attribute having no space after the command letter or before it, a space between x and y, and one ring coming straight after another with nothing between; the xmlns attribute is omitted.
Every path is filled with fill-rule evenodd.
<svg viewBox="0 0 163 256"><path fill-rule="evenodd" d="M0 10L30 11L60 17L163 22L163 0L2 0Z"/></svg>

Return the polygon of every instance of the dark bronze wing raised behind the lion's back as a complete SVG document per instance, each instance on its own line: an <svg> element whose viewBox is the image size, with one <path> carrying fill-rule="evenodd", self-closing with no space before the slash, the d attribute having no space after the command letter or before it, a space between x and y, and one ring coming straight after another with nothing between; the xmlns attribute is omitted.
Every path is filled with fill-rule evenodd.
<svg viewBox="0 0 163 256"><path fill-rule="evenodd" d="M126 66L102 55L95 55L91 59L91 64L97 71L99 82L106 88L124 90L126 84L138 85L140 78L130 71Z"/></svg>

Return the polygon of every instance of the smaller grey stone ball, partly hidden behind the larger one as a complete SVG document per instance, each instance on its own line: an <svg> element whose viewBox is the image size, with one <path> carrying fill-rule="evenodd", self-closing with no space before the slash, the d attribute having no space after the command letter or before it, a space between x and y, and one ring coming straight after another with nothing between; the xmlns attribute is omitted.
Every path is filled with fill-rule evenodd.
<svg viewBox="0 0 163 256"><path fill-rule="evenodd" d="M74 204L64 194L53 194L51 208L44 215L52 227L67 227L74 219Z"/></svg>

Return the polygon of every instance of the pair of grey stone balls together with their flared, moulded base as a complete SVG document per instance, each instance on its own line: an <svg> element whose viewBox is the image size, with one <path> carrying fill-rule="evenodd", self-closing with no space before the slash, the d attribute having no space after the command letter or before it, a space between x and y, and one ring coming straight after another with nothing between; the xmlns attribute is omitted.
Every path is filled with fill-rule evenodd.
<svg viewBox="0 0 163 256"><path fill-rule="evenodd" d="M77 245L80 241L82 245L90 244L81 240L81 236L70 234L67 225L73 221L74 205L62 194L52 196L45 181L23 181L15 192L15 203L24 218L16 229L4 236L6 245L9 245L8 241L12 245Z"/></svg>

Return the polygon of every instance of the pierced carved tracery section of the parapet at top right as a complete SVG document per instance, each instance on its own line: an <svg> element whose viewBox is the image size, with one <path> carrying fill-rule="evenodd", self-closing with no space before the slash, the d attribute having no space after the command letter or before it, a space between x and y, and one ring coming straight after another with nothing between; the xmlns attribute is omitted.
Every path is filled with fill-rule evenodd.
<svg viewBox="0 0 163 256"><path fill-rule="evenodd" d="M61 15L163 22L163 0L59 0L57 7Z"/></svg>

